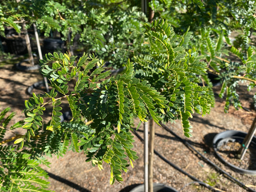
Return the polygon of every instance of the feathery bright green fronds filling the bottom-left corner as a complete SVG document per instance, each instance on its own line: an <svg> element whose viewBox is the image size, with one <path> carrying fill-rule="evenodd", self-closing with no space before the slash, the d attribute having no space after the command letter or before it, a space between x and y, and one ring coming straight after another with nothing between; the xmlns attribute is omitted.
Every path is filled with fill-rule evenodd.
<svg viewBox="0 0 256 192"><path fill-rule="evenodd" d="M13 159L15 160L13 161ZM50 192L47 190L49 182L45 180L48 178L47 173L38 166L36 160L30 159L29 154L17 152L12 146L0 146L0 161L4 168L0 170L4 178L0 180L0 191ZM13 171L15 169L19 171ZM5 182L4 185L3 182ZM35 183L37 183L37 187L34 186Z"/></svg>

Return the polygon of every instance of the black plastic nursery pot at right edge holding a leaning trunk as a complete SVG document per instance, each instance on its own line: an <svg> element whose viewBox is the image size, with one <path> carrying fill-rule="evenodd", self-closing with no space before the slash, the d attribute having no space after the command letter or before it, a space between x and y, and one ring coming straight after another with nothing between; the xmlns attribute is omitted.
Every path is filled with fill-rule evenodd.
<svg viewBox="0 0 256 192"><path fill-rule="evenodd" d="M218 156L219 160L224 163L225 165L227 165L228 167L230 167L233 171L237 172L237 173L241 173L241 174L247 174L247 175L256 175L256 170L255 169L244 169L244 168L239 168L237 166L234 166L233 164L227 162L219 153L219 148L222 145L227 144L228 142L238 142L240 144L242 144L245 136L246 136L246 132L240 132L240 131L233 131L233 130L229 130L229 131L225 131L225 132L220 132L219 134L217 134L214 139L213 139L213 148L214 151L216 153L216 155ZM254 136L250 146L252 149L256 150L256 137ZM254 162L256 163L256 162Z"/></svg>

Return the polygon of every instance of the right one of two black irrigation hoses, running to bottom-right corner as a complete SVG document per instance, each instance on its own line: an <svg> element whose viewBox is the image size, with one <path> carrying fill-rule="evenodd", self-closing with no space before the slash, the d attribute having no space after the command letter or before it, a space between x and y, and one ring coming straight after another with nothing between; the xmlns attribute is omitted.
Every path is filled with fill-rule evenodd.
<svg viewBox="0 0 256 192"><path fill-rule="evenodd" d="M246 191L248 192L256 192L255 190L247 187L244 183L242 183L241 181L235 179L234 177L232 177L228 172L224 171L223 169L219 168L219 166L217 166L215 163L213 163L210 159L208 159L206 156L204 156L203 154L201 154L199 151L197 151L191 144L189 144L186 140L182 139L181 137L179 137L177 134L175 134L173 131L171 131L171 129L169 129L166 125L162 124L160 122L160 125L162 126L162 128L164 128L166 131L170 132L173 136L175 136L177 139L179 139L186 147L194 150L199 156L201 156L204 160L206 160L212 167L214 167L215 169L217 169L219 172L223 173L224 175L226 175L226 177L228 177L230 180L234 181L236 184L238 184L240 187L246 189Z"/></svg>

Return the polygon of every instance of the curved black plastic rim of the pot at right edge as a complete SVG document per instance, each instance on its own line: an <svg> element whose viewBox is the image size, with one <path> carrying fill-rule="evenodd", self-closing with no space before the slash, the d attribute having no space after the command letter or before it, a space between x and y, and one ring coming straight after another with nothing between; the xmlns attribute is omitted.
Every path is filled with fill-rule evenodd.
<svg viewBox="0 0 256 192"><path fill-rule="evenodd" d="M243 140L244 137L246 136L246 132L241 132L241 131L235 131L235 130L228 130L225 132L220 132L217 135L215 135L214 139L213 139L213 149L215 151L215 154L218 156L219 160L224 163L225 165L229 166L233 171L236 171L238 173L241 174L247 174L247 175L252 175L252 176L256 176L256 170L251 170L251 169L243 169L243 168L239 168L236 167L234 165L232 165L231 163L227 162L226 160L224 160L222 158L222 156L220 156L217 152L218 152L218 144L220 141L224 140L224 139L235 139L235 140ZM254 143L254 147L256 148L256 137L253 137L252 142Z"/></svg>

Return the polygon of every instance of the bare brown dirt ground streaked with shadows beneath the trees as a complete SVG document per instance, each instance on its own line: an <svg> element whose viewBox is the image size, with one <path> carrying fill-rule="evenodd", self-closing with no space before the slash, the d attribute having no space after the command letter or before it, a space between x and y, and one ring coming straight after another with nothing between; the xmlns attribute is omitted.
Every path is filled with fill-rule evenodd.
<svg viewBox="0 0 256 192"><path fill-rule="evenodd" d="M16 112L13 122L24 119L24 114L22 113L24 100L29 98L29 95L26 94L26 89L38 81L42 81L42 76L37 71L19 71L13 68L13 64L8 63L8 61L0 62L0 110L11 107L12 111ZM248 93L246 86L242 86L241 98L243 107L248 108L248 111L243 109L235 111L231 108L230 112L225 114L223 110L224 101L218 97L219 88L219 86L214 87L216 104L211 113L206 117L195 114L193 119L190 120L194 131L192 138L187 139L183 136L179 120L173 124L168 123L167 126L188 141L189 144L192 144L196 150L210 161L232 175L232 177L256 190L255 176L241 175L227 168L216 158L211 147L212 138L216 133L226 130L244 132L249 130L250 124L256 115L252 100L255 92ZM38 92L40 90L35 91ZM134 120L134 124L136 122L137 120ZM143 137L143 126L139 128L137 133ZM12 132L7 135L7 137L11 136L13 136ZM64 157L47 157L51 163L51 168L42 166L49 172L49 189L56 192L126 192L129 186L143 183L143 144L136 136L134 136L134 139L134 149L138 153L139 159L134 163L134 168L130 168L128 173L123 174L123 184L109 184L110 167L107 164L104 165L104 170L99 171L97 167L93 168L91 163L85 162L83 153L69 151ZM221 190L221 192L246 191L207 164L206 161L188 149L170 132L159 126L156 127L155 150L178 168L183 169L196 179ZM171 167L157 155L154 156L154 182L164 183L180 192L210 191Z"/></svg>

